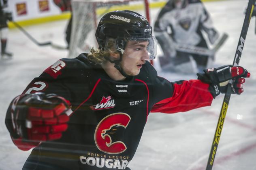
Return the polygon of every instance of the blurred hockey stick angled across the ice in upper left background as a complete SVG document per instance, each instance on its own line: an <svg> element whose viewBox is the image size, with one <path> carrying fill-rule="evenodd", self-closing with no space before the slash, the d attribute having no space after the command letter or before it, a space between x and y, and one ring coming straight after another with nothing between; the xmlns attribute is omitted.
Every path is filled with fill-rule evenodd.
<svg viewBox="0 0 256 170"><path fill-rule="evenodd" d="M48 41L48 42L38 42L35 38L33 38L23 27L21 27L17 22L12 21L12 23L19 29L21 30L21 32L23 32L23 34L25 34L32 42L34 42L36 45L38 46L52 46L53 48L57 48L57 49L67 49L67 47L64 46L60 46L57 44L53 44L52 42Z"/></svg>

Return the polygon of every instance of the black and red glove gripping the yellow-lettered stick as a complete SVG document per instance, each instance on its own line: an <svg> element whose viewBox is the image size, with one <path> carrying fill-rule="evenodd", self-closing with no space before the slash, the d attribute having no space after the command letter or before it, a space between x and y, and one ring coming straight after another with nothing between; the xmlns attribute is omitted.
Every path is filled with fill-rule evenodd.
<svg viewBox="0 0 256 170"><path fill-rule="evenodd" d="M204 72L197 73L198 80L210 84L209 91L213 98L220 93L225 93L229 82L232 86L232 94L241 94L245 82L244 78L250 78L250 73L241 66L224 65L218 68L204 69Z"/></svg>

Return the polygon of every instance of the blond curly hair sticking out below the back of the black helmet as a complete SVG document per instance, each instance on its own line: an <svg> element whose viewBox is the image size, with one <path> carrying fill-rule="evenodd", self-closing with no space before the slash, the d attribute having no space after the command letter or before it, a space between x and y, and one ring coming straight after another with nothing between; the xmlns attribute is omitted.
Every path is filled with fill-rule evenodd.
<svg viewBox="0 0 256 170"><path fill-rule="evenodd" d="M105 49L99 49L92 47L90 49L90 54L87 55L87 59L95 64L102 64L107 62L107 59L112 53L117 53L115 39L109 38L106 42Z"/></svg>

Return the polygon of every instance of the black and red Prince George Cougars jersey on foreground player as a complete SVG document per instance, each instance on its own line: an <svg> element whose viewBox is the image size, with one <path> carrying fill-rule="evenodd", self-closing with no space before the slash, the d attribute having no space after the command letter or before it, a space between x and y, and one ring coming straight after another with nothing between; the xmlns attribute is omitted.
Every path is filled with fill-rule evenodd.
<svg viewBox="0 0 256 170"><path fill-rule="evenodd" d="M35 147L24 169L125 169L139 145L150 112L177 113L211 105L208 84L169 82L146 62L139 75L112 80L86 54L60 59L23 93L55 93L73 113L62 138ZM167 126L167 125L166 125ZM23 149L21 143L16 145Z"/></svg>

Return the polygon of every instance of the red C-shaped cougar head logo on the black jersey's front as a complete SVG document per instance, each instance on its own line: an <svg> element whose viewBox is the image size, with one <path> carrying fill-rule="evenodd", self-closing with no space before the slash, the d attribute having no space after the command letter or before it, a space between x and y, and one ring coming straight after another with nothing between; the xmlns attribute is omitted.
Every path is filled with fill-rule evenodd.
<svg viewBox="0 0 256 170"><path fill-rule="evenodd" d="M123 134L131 118L126 113L113 113L103 118L94 133L98 149L105 153L117 154L126 151Z"/></svg>

